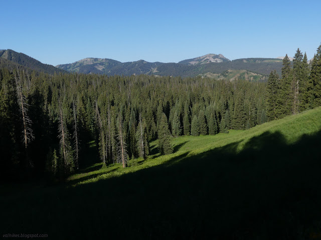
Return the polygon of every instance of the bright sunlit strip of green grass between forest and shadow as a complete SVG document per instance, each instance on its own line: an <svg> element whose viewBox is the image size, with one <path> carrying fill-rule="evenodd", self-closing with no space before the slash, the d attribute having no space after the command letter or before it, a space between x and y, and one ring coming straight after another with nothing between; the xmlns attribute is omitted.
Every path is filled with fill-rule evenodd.
<svg viewBox="0 0 321 240"><path fill-rule="evenodd" d="M216 135L173 137L172 143L175 152L169 155L160 155L158 153L158 141L155 140L150 142L151 154L146 160L143 160L142 158L130 159L128 161L129 167L126 168L122 168L119 163L111 163L107 166L102 163L96 163L84 169L83 173L77 173L70 176L68 182L72 186L75 186L78 184L95 182L100 179L116 177L163 164L175 157L177 160L182 160L185 157L197 155L231 143L238 143L237 151L241 151L252 137L259 136L268 131L271 133L280 132L285 137L286 143L291 144L298 140L303 134L310 134L319 129L321 129L321 107L266 122L248 130L229 130L229 133L219 133Z"/></svg>

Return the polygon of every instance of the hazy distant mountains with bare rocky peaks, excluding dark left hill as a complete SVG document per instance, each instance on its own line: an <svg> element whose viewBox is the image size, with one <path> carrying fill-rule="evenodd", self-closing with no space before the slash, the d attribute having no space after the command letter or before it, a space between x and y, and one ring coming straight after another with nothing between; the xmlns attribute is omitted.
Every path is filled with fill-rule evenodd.
<svg viewBox="0 0 321 240"><path fill-rule="evenodd" d="M217 74L223 74L228 70L243 70L252 72L251 75L255 75L255 77L251 79L257 81L265 80L266 75L274 69L280 74L282 60L277 58L241 58L231 61L222 54L211 53L182 60L178 63L148 62L144 60L120 62L109 58L85 58L69 64L60 64L56 67L79 73L108 75L148 74L182 77L197 75L218 77ZM245 76L246 74L243 75Z"/></svg>

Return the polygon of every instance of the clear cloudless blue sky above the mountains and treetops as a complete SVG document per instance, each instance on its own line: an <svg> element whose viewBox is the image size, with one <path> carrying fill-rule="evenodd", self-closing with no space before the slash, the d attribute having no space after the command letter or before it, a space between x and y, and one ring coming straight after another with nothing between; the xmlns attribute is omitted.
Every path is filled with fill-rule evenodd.
<svg viewBox="0 0 321 240"><path fill-rule="evenodd" d="M320 0L2 0L0 48L53 65L293 56L298 47L310 59L321 42L320 9Z"/></svg>

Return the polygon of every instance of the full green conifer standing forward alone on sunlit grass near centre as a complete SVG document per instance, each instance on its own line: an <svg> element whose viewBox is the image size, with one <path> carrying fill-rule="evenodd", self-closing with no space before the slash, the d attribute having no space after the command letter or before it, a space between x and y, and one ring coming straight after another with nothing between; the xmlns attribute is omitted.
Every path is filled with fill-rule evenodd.
<svg viewBox="0 0 321 240"><path fill-rule="evenodd" d="M161 154L173 153L173 145L171 143L171 132L169 130L169 124L167 116L163 112L158 124L158 149Z"/></svg>

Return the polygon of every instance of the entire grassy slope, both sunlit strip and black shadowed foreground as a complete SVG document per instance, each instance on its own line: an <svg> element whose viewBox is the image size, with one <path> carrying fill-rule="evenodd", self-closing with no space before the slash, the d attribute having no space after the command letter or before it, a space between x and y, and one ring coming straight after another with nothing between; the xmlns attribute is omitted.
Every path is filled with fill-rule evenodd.
<svg viewBox="0 0 321 240"><path fill-rule="evenodd" d="M97 163L67 186L7 192L2 229L52 238L309 239L321 232L320 119L319 107L245 131L178 137L165 156L155 141L150 158L131 167Z"/></svg>

